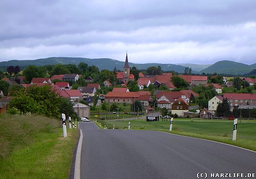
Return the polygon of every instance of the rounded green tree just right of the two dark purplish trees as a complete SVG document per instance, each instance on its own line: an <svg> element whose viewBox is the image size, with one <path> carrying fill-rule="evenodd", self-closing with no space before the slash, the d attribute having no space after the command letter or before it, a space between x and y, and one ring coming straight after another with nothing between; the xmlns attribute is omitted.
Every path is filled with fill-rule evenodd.
<svg viewBox="0 0 256 179"><path fill-rule="evenodd" d="M23 70L23 75L26 78L26 81L30 83L32 78L42 78L46 76L46 72L35 65L29 65Z"/></svg>

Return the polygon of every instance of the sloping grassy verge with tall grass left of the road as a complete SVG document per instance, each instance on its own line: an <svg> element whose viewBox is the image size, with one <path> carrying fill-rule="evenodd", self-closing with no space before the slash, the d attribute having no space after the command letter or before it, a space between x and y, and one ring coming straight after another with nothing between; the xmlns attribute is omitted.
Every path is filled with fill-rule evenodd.
<svg viewBox="0 0 256 179"><path fill-rule="evenodd" d="M67 133L56 119L1 116L1 178L68 178L79 132Z"/></svg>

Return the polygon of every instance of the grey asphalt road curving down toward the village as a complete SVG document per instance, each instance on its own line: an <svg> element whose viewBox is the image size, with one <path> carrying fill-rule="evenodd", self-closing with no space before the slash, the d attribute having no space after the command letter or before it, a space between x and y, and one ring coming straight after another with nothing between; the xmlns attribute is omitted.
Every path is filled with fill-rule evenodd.
<svg viewBox="0 0 256 179"><path fill-rule="evenodd" d="M255 173L256 153L146 130L103 130L79 123L81 178L197 178L197 173Z"/></svg>

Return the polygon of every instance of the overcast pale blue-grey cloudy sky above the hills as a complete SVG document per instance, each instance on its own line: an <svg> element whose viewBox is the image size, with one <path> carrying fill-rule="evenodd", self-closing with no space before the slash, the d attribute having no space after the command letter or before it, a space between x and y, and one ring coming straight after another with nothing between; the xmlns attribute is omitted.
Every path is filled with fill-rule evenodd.
<svg viewBox="0 0 256 179"><path fill-rule="evenodd" d="M0 61L256 62L256 1L2 0Z"/></svg>

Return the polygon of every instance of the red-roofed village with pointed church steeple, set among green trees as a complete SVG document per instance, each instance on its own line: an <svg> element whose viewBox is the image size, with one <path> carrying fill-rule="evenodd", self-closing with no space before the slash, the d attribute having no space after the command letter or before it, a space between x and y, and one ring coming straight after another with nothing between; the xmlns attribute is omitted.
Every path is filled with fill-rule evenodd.
<svg viewBox="0 0 256 179"><path fill-rule="evenodd" d="M90 67L86 65L84 68L92 71ZM122 71L115 69L113 72L98 72L104 72L104 78L94 74L95 78L66 73L44 78L32 74L31 80L28 80L19 73L19 76L10 75L2 80L10 86L22 86L25 90L33 85L49 85L60 97L73 104L73 110L79 118L122 119L131 115L147 116L155 112L160 112L162 117L176 118L256 118L256 94L252 93L255 92L256 79L253 77L193 75L189 68L185 69L184 74L165 73L157 68L155 71L148 68L142 73L134 66L131 68L126 53ZM13 93L9 91L4 95L3 91L0 91L1 112L8 110L8 102ZM225 101L228 102L226 108L220 105ZM218 106L222 108L218 109Z"/></svg>

